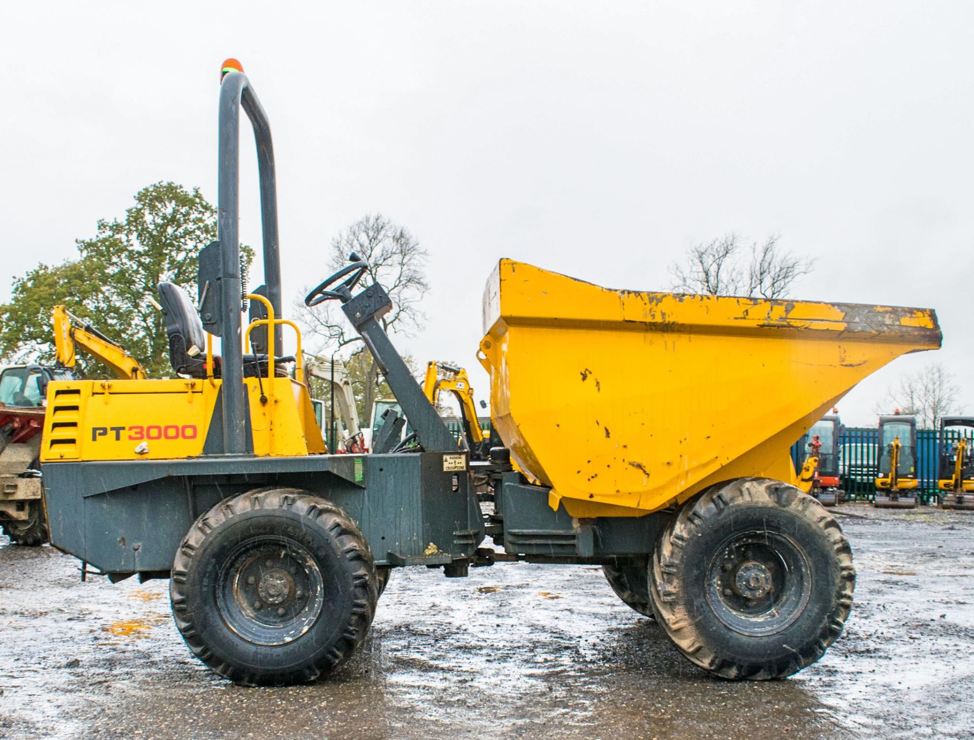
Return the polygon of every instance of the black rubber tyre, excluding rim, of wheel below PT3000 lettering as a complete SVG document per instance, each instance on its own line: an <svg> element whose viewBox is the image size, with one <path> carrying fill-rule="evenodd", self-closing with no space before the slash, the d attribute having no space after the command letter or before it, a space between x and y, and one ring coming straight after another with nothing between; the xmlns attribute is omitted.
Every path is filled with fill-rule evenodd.
<svg viewBox="0 0 974 740"><path fill-rule="evenodd" d="M293 643L272 646L272 650L287 648L292 653L289 662L281 663L275 656L277 665L267 659L266 645L248 642L226 626L213 602L218 583L215 577L208 584L205 579L207 565L209 569L219 565L206 563L206 556L209 551L219 551L220 537L226 539L231 527L259 522L263 515L320 538L315 547L326 556L331 554L328 563L318 562L319 568L328 571L322 576L330 576L326 582L331 583L343 578L345 583L339 585L347 592L341 595L342 612L330 630L323 624L322 611L316 627L323 632L313 627ZM368 544L341 508L297 488L258 488L221 501L197 519L176 551L169 598L183 640L213 671L242 685L280 686L316 681L355 653L375 614L378 580ZM219 639L214 640L214 635ZM258 654L261 650L265 650L264 656Z"/></svg>

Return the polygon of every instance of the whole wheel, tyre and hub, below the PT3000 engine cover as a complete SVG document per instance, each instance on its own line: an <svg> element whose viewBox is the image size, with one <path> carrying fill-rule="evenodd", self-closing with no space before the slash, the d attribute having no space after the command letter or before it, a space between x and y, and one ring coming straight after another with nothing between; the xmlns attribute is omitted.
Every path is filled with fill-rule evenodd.
<svg viewBox="0 0 974 740"><path fill-rule="evenodd" d="M346 661L375 612L375 565L334 504L260 489L201 516L176 552L176 627L220 676L244 685L310 682Z"/></svg>

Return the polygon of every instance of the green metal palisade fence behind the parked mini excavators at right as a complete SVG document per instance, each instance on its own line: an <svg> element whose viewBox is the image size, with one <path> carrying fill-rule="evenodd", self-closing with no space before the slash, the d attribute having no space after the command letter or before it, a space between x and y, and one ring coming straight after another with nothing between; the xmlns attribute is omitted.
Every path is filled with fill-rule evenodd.
<svg viewBox="0 0 974 740"><path fill-rule="evenodd" d="M876 479L880 475L879 430L873 427L843 427L839 434L840 487L850 498L872 501L876 498ZM941 439L943 434L943 439ZM941 451L950 451L961 437L968 440L974 430L936 429L917 431L917 488L920 500L931 503L938 497L937 480L940 475ZM795 469L805 462L806 438L792 447Z"/></svg>

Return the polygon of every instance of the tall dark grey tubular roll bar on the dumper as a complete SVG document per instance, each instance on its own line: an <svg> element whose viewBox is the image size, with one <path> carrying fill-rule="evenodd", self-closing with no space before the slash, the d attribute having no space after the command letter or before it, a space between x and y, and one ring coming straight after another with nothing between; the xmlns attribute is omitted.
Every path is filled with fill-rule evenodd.
<svg viewBox="0 0 974 740"><path fill-rule="evenodd" d="M250 423L244 387L240 262L240 108L244 108L257 143L260 214L264 242L264 283L274 313L281 318L281 254L278 247L278 183L274 145L267 114L243 72L228 72L220 83L217 239L220 242L220 294L223 315L222 421L223 452L247 454ZM275 328L281 351L281 328Z"/></svg>

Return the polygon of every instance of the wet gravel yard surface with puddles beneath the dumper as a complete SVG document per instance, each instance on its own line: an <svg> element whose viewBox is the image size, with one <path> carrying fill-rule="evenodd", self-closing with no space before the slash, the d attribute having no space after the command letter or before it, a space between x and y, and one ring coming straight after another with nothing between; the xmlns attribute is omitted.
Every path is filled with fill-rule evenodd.
<svg viewBox="0 0 974 740"><path fill-rule="evenodd" d="M393 572L326 682L241 688L194 659L168 581L79 581L0 537L3 738L970 738L974 514L843 506L843 637L778 682L724 682L618 602L600 568Z"/></svg>

